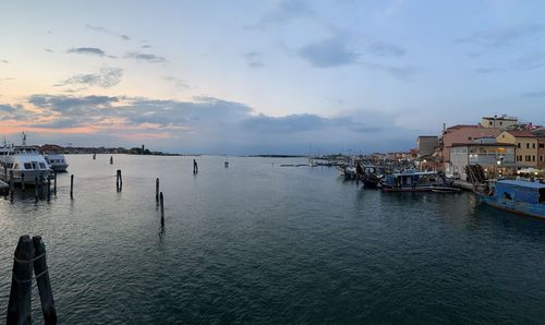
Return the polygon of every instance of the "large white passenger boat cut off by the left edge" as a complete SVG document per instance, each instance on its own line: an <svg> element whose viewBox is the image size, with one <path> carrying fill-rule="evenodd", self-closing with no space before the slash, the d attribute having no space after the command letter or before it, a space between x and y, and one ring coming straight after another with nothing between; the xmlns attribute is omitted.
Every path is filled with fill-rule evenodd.
<svg viewBox="0 0 545 325"><path fill-rule="evenodd" d="M46 158L38 153L35 146L26 145L26 135L23 133L23 144L20 146L4 143L0 147L0 178L9 182L13 172L13 182L20 183L23 178L25 183L35 184L35 179L44 177L47 180L51 168Z"/></svg>

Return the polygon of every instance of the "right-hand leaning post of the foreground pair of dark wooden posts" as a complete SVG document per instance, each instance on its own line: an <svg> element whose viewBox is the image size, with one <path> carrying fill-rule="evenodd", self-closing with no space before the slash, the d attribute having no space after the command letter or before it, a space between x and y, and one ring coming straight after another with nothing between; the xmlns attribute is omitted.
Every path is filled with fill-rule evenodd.
<svg viewBox="0 0 545 325"><path fill-rule="evenodd" d="M47 268L46 245L40 236L33 237L33 245L36 257L38 257L34 261L34 274L38 285L44 321L46 325L57 324L57 310L55 308L53 292L51 291L51 281L49 280Z"/></svg>

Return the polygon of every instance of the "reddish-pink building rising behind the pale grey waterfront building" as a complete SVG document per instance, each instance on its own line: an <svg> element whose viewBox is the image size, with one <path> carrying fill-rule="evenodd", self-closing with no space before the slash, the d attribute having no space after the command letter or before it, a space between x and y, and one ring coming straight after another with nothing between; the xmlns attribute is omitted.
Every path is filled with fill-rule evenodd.
<svg viewBox="0 0 545 325"><path fill-rule="evenodd" d="M443 168L447 173L452 172L450 161L450 148L452 144L473 144L475 140L489 137L496 139L501 131L497 128L484 128L482 125L453 125L443 131L439 140L440 158Z"/></svg>

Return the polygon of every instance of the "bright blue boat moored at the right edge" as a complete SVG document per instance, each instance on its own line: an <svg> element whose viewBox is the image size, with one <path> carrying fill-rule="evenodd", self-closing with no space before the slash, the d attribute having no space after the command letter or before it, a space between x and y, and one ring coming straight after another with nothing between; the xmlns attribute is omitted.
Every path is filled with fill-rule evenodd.
<svg viewBox="0 0 545 325"><path fill-rule="evenodd" d="M511 213L545 219L545 184L528 181L497 181L482 203Z"/></svg>

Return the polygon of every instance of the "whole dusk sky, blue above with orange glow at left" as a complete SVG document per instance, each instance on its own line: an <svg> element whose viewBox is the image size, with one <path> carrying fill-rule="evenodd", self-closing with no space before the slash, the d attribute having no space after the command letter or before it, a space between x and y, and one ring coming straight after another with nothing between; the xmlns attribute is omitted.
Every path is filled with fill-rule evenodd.
<svg viewBox="0 0 545 325"><path fill-rule="evenodd" d="M0 134L220 155L545 124L543 1L4 1Z"/></svg>

